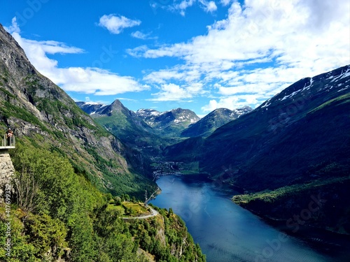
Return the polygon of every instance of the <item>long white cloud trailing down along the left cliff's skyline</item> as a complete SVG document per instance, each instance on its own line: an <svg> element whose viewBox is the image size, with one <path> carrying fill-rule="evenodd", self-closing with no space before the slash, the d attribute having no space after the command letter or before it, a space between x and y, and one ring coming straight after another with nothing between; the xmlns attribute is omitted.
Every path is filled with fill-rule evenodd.
<svg viewBox="0 0 350 262"><path fill-rule="evenodd" d="M11 28L13 37L25 50L31 64L65 91L103 96L149 89L147 85L141 85L130 76L121 76L95 67L59 68L57 60L50 59L47 54L79 54L84 50L57 41L32 41L22 38L15 20L13 25L8 27Z"/></svg>

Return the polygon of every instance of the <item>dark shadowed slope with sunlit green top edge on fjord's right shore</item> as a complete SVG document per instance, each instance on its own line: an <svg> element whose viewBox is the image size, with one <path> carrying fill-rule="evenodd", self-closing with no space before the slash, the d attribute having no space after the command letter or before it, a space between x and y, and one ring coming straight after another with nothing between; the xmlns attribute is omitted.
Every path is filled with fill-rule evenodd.
<svg viewBox="0 0 350 262"><path fill-rule="evenodd" d="M318 178L273 191L237 195L232 200L260 216L281 221L293 233L311 226L349 235L349 187L349 175Z"/></svg>

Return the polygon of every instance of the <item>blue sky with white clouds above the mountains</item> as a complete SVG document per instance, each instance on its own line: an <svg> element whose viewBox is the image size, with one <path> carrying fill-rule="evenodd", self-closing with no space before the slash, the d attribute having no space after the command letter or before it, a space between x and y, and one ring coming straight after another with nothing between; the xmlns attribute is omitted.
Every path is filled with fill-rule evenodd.
<svg viewBox="0 0 350 262"><path fill-rule="evenodd" d="M74 101L203 117L350 64L349 0L0 2L0 23Z"/></svg>

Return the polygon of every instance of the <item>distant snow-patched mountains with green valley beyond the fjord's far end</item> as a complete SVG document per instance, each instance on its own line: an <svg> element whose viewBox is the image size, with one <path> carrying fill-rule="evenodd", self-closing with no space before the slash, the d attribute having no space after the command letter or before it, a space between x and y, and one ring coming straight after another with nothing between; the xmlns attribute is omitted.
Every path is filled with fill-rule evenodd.
<svg viewBox="0 0 350 262"><path fill-rule="evenodd" d="M129 149L134 150L134 155L139 153L141 160L138 163L134 163L135 157L127 160L134 163L132 166L142 163L142 170L148 173L153 173L150 169L153 162L162 161L165 147L179 143L193 136L193 133L196 136L208 136L215 128L252 110L249 107L237 110L221 108L200 119L195 112L182 108L166 112L154 109L134 112L118 99L111 105L90 102L76 104ZM142 173L142 170L139 172Z"/></svg>

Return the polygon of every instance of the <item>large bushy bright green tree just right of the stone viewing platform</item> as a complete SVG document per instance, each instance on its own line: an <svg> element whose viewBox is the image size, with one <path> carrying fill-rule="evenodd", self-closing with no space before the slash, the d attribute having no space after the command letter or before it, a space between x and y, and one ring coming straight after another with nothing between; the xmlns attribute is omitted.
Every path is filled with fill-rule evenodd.
<svg viewBox="0 0 350 262"><path fill-rule="evenodd" d="M18 191L18 205L27 211L50 214L52 218L66 221L76 208L78 177L68 159L60 157L57 152L35 148L22 148L18 145L13 157L17 167L15 186ZM23 179L26 177L26 179ZM27 182L23 185L20 182ZM32 203L23 203L19 196L22 190L36 184L31 190Z"/></svg>

